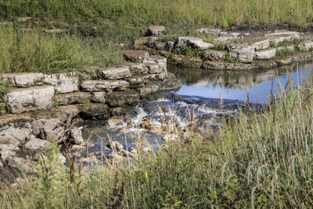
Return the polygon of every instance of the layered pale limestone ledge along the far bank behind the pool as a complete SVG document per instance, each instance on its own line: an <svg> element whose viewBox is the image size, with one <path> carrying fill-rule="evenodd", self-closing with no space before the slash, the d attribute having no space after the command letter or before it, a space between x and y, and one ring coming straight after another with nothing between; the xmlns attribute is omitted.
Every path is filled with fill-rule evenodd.
<svg viewBox="0 0 313 209"><path fill-rule="evenodd" d="M154 28L150 26L149 28ZM157 26L156 28L160 28ZM148 29L148 31L150 31ZM288 65L298 61L313 60L313 41L302 40L298 32L276 30L262 37L244 37L240 33L227 34L213 29L200 29L201 33L220 35L215 39L224 45L223 50L197 37L177 37L176 41L164 42L164 33L151 34L134 41L138 50L152 48L156 55L167 58L172 64L210 70L251 70ZM186 56L184 51L194 50L198 56Z"/></svg>

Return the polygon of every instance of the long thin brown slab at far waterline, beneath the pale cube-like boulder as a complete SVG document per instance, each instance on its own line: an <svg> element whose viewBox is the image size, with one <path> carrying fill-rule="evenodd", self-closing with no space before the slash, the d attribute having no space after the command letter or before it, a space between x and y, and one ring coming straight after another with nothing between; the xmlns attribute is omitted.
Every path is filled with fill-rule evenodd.
<svg viewBox="0 0 313 209"><path fill-rule="evenodd" d="M203 68L211 70L251 70L253 66L251 64L244 63L228 63L228 62L215 62L205 61L203 62Z"/></svg>

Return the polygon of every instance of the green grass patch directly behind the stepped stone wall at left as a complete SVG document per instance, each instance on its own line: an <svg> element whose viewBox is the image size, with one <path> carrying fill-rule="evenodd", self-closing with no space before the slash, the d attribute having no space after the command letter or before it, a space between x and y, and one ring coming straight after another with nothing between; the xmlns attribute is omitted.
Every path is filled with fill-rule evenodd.
<svg viewBox="0 0 313 209"><path fill-rule="evenodd" d="M0 29L0 73L73 71L86 65L120 64L118 48L77 34L45 34L39 28Z"/></svg>

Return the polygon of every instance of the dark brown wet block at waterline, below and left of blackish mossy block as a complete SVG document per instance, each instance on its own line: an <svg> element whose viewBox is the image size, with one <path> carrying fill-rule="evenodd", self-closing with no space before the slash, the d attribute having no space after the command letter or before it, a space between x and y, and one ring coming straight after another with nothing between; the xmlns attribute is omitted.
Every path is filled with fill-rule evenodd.
<svg viewBox="0 0 313 209"><path fill-rule="evenodd" d="M75 106L80 110L80 113L88 117L105 116L108 114L108 106L103 103L85 103Z"/></svg>

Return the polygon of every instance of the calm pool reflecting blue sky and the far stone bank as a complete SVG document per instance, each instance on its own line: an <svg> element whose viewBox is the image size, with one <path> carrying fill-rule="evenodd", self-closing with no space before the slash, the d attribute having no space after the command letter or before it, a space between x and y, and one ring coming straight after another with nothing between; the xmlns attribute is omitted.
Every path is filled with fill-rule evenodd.
<svg viewBox="0 0 313 209"><path fill-rule="evenodd" d="M244 103L249 92L251 103L266 103L272 82L274 94L279 90L279 83L286 85L290 73L293 84L299 84L311 73L312 63L251 71L211 71L168 66L167 71L184 83L176 95L218 99L219 83L223 99Z"/></svg>

